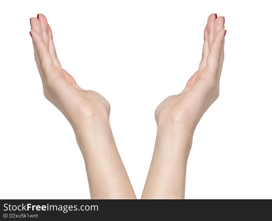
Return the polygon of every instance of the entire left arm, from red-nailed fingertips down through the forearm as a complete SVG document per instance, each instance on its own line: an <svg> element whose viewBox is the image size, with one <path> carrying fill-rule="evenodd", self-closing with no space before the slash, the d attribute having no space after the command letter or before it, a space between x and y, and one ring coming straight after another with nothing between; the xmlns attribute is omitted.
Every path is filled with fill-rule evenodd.
<svg viewBox="0 0 272 221"><path fill-rule="evenodd" d="M38 14L30 23L44 95L74 128L85 161L91 197L136 198L114 142L107 100L95 91L80 88L62 69L45 16Z"/></svg>

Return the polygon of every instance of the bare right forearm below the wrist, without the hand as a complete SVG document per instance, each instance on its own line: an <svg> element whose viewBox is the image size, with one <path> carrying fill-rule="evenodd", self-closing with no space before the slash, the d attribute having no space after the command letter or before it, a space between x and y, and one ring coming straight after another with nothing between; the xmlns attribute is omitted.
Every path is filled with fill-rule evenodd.
<svg viewBox="0 0 272 221"><path fill-rule="evenodd" d="M143 199L183 199L186 165L192 133L180 125L158 125L154 154L143 190Z"/></svg>

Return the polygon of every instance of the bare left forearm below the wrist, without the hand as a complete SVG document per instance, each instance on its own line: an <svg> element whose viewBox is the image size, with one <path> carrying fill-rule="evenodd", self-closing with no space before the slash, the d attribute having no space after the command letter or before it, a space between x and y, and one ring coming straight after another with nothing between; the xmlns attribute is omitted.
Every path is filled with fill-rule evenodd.
<svg viewBox="0 0 272 221"><path fill-rule="evenodd" d="M92 199L134 199L108 119L94 118L75 130Z"/></svg>

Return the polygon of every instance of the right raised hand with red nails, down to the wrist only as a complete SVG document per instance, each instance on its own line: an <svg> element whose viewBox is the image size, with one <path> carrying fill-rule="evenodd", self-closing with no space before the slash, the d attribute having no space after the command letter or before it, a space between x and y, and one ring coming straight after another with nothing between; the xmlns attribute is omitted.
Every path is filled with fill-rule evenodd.
<svg viewBox="0 0 272 221"><path fill-rule="evenodd" d="M190 134L198 121L219 96L219 79L224 60L224 17L211 14L204 30L202 59L184 90L166 98L155 111L158 125L178 124Z"/></svg>

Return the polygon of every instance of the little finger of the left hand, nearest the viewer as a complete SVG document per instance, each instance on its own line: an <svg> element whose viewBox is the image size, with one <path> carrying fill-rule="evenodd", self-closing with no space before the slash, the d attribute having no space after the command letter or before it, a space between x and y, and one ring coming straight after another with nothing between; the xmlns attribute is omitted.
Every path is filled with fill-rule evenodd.
<svg viewBox="0 0 272 221"><path fill-rule="evenodd" d="M32 40L35 45L38 58L40 60L40 66L45 77L50 77L51 73L59 75L58 71L53 71L56 67L53 64L52 57L47 49L43 37L36 30L32 30Z"/></svg>

